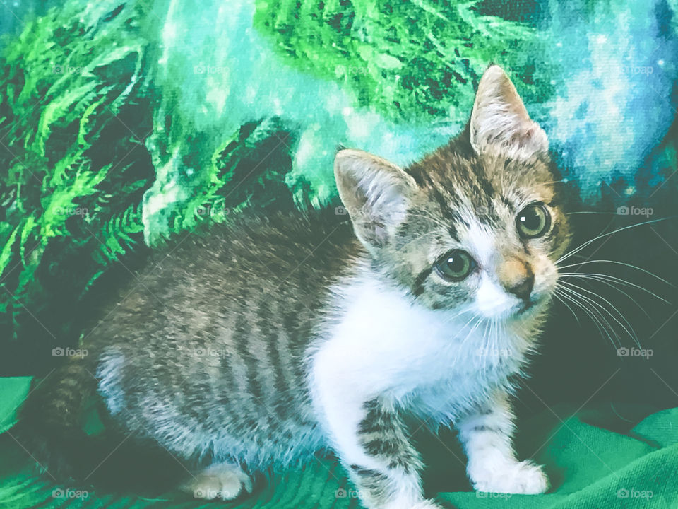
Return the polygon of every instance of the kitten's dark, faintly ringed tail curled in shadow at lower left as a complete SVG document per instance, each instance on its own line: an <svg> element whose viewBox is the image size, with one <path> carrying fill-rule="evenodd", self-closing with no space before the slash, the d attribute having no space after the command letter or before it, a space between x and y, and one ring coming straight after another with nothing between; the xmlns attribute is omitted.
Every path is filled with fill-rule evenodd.
<svg viewBox="0 0 678 509"><path fill-rule="evenodd" d="M160 493L186 475L167 450L114 423L103 405L90 411L97 380L76 358L34 382L11 433L52 481L71 488ZM88 435L83 425L97 414L105 431Z"/></svg>

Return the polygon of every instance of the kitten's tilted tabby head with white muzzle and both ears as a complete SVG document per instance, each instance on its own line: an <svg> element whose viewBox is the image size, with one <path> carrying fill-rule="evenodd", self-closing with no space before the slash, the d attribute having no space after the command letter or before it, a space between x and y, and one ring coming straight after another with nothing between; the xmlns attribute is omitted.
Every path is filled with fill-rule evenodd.
<svg viewBox="0 0 678 509"><path fill-rule="evenodd" d="M450 144L404 170L343 150L335 177L375 266L417 302L497 320L545 309L569 228L546 134L499 66Z"/></svg>

